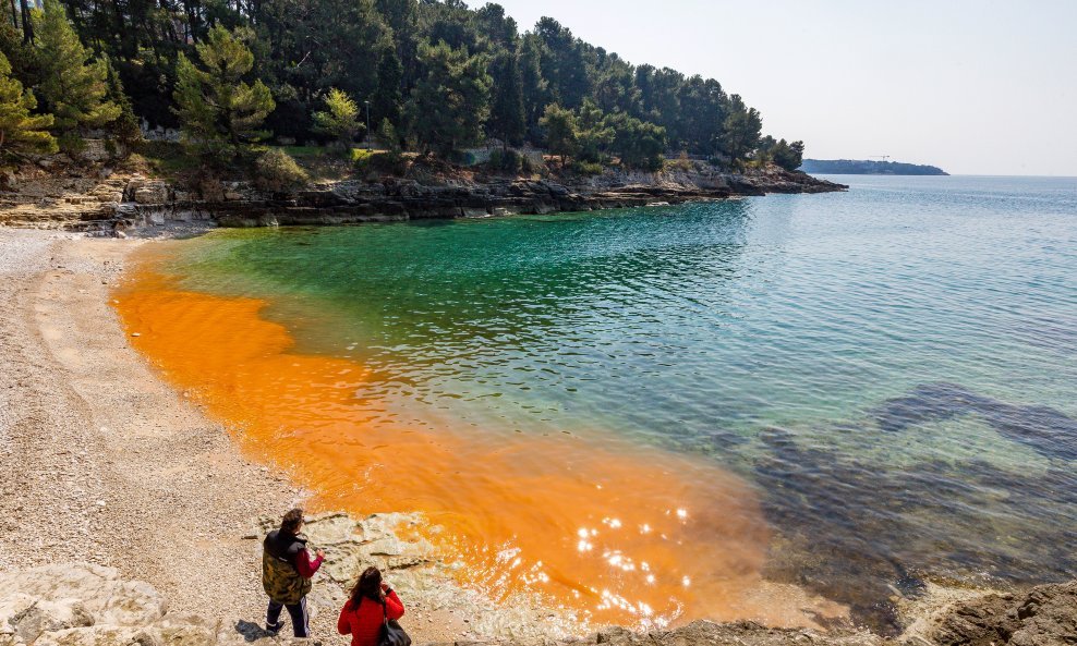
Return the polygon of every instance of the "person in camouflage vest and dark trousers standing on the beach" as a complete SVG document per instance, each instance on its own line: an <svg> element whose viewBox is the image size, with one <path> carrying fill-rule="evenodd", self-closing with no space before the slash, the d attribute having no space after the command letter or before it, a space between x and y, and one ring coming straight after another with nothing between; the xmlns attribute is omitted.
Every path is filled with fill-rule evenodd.
<svg viewBox="0 0 1077 646"><path fill-rule="evenodd" d="M325 560L325 552L318 550L312 561L306 551L306 537L300 534L302 529L303 510L293 509L285 514L280 528L267 534L262 541L262 587L269 595L266 631L273 634L285 626L280 611L287 608L295 636L310 636L306 595L311 592L311 578Z"/></svg>

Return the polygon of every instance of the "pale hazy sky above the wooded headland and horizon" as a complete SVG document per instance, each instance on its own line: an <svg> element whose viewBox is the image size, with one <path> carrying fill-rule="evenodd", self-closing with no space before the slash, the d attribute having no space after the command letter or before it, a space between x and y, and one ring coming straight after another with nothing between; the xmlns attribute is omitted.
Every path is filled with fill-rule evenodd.
<svg viewBox="0 0 1077 646"><path fill-rule="evenodd" d="M717 78L818 159L1077 175L1077 0L500 0ZM472 7L485 0L469 2Z"/></svg>

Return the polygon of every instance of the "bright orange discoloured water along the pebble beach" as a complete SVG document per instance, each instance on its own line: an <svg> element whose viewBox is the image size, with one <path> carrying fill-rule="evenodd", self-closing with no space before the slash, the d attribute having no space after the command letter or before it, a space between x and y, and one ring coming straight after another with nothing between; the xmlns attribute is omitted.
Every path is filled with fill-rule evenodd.
<svg viewBox="0 0 1077 646"><path fill-rule="evenodd" d="M789 623L755 594L769 533L737 477L602 429L373 424L384 411L362 365L297 354L259 317L265 302L182 291L156 266L114 296L132 343L317 507L424 512L445 556L495 597L537 592L597 622Z"/></svg>

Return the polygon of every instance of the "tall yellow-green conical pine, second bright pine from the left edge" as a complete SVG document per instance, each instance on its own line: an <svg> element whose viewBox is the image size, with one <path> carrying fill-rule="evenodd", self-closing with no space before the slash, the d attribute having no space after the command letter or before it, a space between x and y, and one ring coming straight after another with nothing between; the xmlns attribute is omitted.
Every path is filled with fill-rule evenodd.
<svg viewBox="0 0 1077 646"><path fill-rule="evenodd" d="M45 0L36 42L41 61L39 92L56 118L55 129L78 134L114 121L121 108L108 100L108 70L78 41L59 0Z"/></svg>

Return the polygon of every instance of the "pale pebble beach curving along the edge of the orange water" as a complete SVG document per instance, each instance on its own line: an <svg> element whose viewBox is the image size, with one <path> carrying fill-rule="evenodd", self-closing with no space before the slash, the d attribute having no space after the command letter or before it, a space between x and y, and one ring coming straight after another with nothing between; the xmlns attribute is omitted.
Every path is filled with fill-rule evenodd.
<svg viewBox="0 0 1077 646"><path fill-rule="evenodd" d="M0 316L0 363L5 367L0 371L0 475L11 485L0 492L0 513L7 520L0 524L5 545L0 578L64 561L113 566L124 580L156 587L167 597L170 613L208 614L221 634L235 637L241 624L250 622L250 632L264 612L257 540L264 527L257 523L302 503L308 492L244 458L221 424L176 392L126 341L109 300L130 254L147 244L154 243L0 228L0 297L11 304ZM411 522L407 514L389 516ZM409 559L425 558L408 546L392 554L374 551L370 540L355 541L347 532L341 537L341 526L355 523L341 517L323 516L312 534L344 558L353 560L367 546L366 556L386 559L386 564L402 559L396 561L401 572L416 564ZM371 522L382 532L385 521L377 519L359 523L367 523L364 532L371 532ZM326 570L312 596L312 631L322 643L343 644L335 634L335 604L348 573L339 563ZM416 644L568 637L543 634L548 625L534 623L534 614L531 630L519 631L511 622L525 620L527 609L498 614L492 601L453 589L447 577L411 585L416 593L429 593L415 594L411 602L406 598L406 629ZM939 608L983 593L939 588L923 604L906 608L907 619L919 626L917 632L925 631ZM479 631L485 634L464 621L476 612L487 618ZM692 635L713 639L713 633L697 634L699 623L664 634L679 635L676 643L686 635L690 642ZM620 637L607 635L605 641L628 638L619 630L612 634ZM820 634L741 622L714 630L733 631L729 638L737 642L730 643L745 644L806 638L819 644L895 643L849 629ZM910 638L907 643L923 643Z"/></svg>

